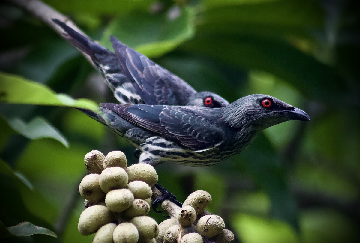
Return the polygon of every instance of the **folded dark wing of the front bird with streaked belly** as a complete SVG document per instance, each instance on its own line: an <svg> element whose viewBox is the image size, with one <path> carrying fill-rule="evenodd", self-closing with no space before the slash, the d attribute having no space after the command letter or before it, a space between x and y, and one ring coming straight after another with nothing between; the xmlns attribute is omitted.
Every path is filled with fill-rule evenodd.
<svg viewBox="0 0 360 243"><path fill-rule="evenodd" d="M195 152L219 146L221 130L206 114L185 107L162 105L117 105L102 103L136 126L157 133Z"/></svg>

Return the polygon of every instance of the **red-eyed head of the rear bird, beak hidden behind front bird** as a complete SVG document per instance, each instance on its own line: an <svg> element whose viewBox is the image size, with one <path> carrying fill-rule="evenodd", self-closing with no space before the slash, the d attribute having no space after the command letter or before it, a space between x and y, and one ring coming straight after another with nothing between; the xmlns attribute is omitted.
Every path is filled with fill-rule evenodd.
<svg viewBox="0 0 360 243"><path fill-rule="evenodd" d="M229 105L229 102L220 95L208 91L195 93L189 100L189 103L186 105L212 108L225 107L226 105Z"/></svg>

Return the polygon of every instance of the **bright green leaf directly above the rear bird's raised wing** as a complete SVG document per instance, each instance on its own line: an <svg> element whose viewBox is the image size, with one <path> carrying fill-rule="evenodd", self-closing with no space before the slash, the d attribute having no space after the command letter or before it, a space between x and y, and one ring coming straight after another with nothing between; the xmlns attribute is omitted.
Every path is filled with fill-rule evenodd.
<svg viewBox="0 0 360 243"><path fill-rule="evenodd" d="M170 12L163 14L135 12L117 17L104 31L100 44L111 50L109 36L114 35L124 44L148 57L159 57L174 50L176 46L194 36L194 10L177 7L169 11L180 11L179 16L169 17Z"/></svg>

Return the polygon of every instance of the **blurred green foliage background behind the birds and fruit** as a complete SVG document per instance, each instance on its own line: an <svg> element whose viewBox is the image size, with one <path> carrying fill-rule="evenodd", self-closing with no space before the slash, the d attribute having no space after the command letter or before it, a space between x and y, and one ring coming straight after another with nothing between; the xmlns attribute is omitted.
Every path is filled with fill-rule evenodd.
<svg viewBox="0 0 360 243"><path fill-rule="evenodd" d="M265 93L310 115L310 122L270 127L242 154L211 168L160 165L159 182L180 201L207 190L209 211L221 215L241 242L359 241L356 1L45 2L109 49L114 35L198 91L230 102ZM20 75L76 99L115 101L87 60L39 19L2 1L0 23L6 77ZM19 89L19 102L12 103L33 96ZM1 93L0 102L5 98ZM133 148L73 108L37 104L0 104L0 220L5 227L29 221L58 235L10 238L14 242L90 242L77 231L84 156L93 149L122 150L135 163ZM34 119L41 122L30 126ZM41 126L57 135L41 138ZM68 141L69 148L53 138Z"/></svg>

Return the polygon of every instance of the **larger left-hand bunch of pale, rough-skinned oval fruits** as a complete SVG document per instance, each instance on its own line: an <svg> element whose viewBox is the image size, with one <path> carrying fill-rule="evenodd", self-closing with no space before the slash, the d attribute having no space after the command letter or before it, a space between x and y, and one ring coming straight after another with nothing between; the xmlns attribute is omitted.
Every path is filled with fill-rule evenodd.
<svg viewBox="0 0 360 243"><path fill-rule="evenodd" d="M127 167L121 151L104 156L98 150L86 154L85 165L91 174L79 186L86 206L80 215L79 232L96 233L93 242L156 242L158 224L145 216L150 211L151 186L158 180L154 167Z"/></svg>

